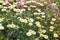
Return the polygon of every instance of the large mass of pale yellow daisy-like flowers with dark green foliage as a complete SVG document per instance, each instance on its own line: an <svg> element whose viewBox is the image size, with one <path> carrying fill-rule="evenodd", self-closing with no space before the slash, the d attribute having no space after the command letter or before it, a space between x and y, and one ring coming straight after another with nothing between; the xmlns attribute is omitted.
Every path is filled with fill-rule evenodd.
<svg viewBox="0 0 60 40"><path fill-rule="evenodd" d="M0 32L6 40L59 40L60 17L47 2L27 1L18 9L17 2L0 4ZM55 4L53 4L55 5ZM5 40L4 39L4 40Z"/></svg>

